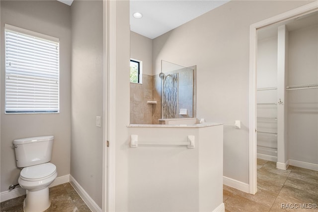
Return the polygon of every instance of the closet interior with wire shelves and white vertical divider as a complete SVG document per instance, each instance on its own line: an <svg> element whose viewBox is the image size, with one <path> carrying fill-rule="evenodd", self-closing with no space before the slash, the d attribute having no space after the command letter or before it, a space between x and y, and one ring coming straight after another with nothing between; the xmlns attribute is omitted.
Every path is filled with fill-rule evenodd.
<svg viewBox="0 0 318 212"><path fill-rule="evenodd" d="M318 170L318 14L257 38L257 158Z"/></svg>

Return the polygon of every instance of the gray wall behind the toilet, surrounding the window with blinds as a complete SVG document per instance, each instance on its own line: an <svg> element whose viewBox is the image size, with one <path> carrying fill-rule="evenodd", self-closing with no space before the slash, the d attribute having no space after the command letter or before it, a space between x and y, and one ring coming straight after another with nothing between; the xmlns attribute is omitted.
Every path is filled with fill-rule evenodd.
<svg viewBox="0 0 318 212"><path fill-rule="evenodd" d="M4 23L60 38L60 113L4 114ZM71 143L71 13L70 6L59 1L1 0L1 192L17 184L12 140L54 135L51 162L58 177L70 174Z"/></svg>

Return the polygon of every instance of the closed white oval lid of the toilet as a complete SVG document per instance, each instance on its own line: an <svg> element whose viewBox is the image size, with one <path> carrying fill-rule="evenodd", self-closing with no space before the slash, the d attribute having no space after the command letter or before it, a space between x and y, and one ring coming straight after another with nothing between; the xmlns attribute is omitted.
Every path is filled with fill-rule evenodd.
<svg viewBox="0 0 318 212"><path fill-rule="evenodd" d="M56 172L56 166L53 163L43 163L23 168L20 176L25 179L39 179L48 177L54 172Z"/></svg>

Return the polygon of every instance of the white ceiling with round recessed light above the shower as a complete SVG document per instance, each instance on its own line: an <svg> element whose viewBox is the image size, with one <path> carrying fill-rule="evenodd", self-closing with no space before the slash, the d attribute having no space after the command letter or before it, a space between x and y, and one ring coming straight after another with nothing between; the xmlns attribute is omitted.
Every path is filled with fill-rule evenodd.
<svg viewBox="0 0 318 212"><path fill-rule="evenodd" d="M130 0L130 29L158 37L230 0ZM142 18L134 18L140 12Z"/></svg>

